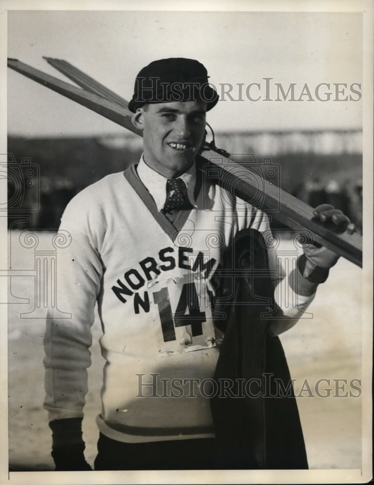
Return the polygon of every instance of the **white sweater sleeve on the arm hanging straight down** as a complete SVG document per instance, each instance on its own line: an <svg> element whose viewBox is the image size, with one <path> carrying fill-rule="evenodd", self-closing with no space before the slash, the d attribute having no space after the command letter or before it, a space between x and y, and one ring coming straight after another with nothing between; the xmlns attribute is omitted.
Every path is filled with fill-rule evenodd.
<svg viewBox="0 0 374 485"><path fill-rule="evenodd" d="M68 245L57 253L56 304L48 312L44 337L44 407L49 421L83 416L91 326L103 272L89 227L87 211L73 199L60 226L66 231Z"/></svg>

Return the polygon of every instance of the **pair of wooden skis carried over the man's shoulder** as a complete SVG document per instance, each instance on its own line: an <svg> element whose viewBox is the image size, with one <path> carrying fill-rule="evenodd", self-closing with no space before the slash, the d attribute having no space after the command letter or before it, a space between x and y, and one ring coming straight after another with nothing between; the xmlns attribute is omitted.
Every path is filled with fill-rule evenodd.
<svg viewBox="0 0 374 485"><path fill-rule="evenodd" d="M119 97L66 61L46 59L49 64L81 87L60 81L16 59L8 59L8 67L133 133L142 135L131 123L132 113L128 110L126 99ZM327 225L315 219L313 209L308 204L283 191L272 180L264 177L264 170L269 166L259 164L255 157L251 156L243 163L227 155L215 147L213 149L208 145L203 147L201 157L207 161L203 166L205 176L217 179L229 192L267 212L271 218L292 229L302 229L303 234L307 234L309 239L323 244L336 254L362 267L362 237L359 234L342 232L333 224Z"/></svg>

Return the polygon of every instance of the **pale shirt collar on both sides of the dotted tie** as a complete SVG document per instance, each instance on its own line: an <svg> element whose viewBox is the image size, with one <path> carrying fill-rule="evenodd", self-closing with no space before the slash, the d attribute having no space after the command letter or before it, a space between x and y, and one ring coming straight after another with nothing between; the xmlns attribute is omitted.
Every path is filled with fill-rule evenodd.
<svg viewBox="0 0 374 485"><path fill-rule="evenodd" d="M140 162L136 168L138 177L143 185L146 187L149 194L152 195L156 203L157 210L160 212L166 202L166 182L167 178L153 170L144 161L144 156L140 158ZM196 165L195 162L191 167L184 172L179 178L183 180L187 187L188 199L194 207L195 203L195 185L196 185Z"/></svg>

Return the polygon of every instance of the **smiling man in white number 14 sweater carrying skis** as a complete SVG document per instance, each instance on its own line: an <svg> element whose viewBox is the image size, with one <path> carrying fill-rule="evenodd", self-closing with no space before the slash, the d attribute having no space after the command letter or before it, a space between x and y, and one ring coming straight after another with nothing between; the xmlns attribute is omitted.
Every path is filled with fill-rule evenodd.
<svg viewBox="0 0 374 485"><path fill-rule="evenodd" d="M139 164L86 188L66 207L60 228L70 245L59 254L57 300L71 319L49 313L45 336L56 470L90 469L81 420L96 304L106 363L95 469L227 468L205 387L223 339L213 323L214 274L238 234L263 234L269 223L198 169L206 112L217 101L195 60L146 66L129 104L143 132ZM331 206L316 216L349 225ZM274 291L285 275L267 253ZM270 336L296 322L337 257L311 246L300 261L289 279L294 306L276 302Z"/></svg>

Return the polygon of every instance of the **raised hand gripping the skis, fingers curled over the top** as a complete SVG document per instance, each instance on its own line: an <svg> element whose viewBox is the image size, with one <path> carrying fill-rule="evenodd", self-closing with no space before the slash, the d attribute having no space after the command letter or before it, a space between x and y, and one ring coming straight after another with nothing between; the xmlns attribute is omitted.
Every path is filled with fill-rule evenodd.
<svg viewBox="0 0 374 485"><path fill-rule="evenodd" d="M348 234L355 232L356 227L341 210L330 204L321 204L313 210L313 215L322 222L332 222ZM320 244L304 246L304 257L299 261L299 269L305 278L315 283L323 283L327 279L328 270L338 261L339 256Z"/></svg>

